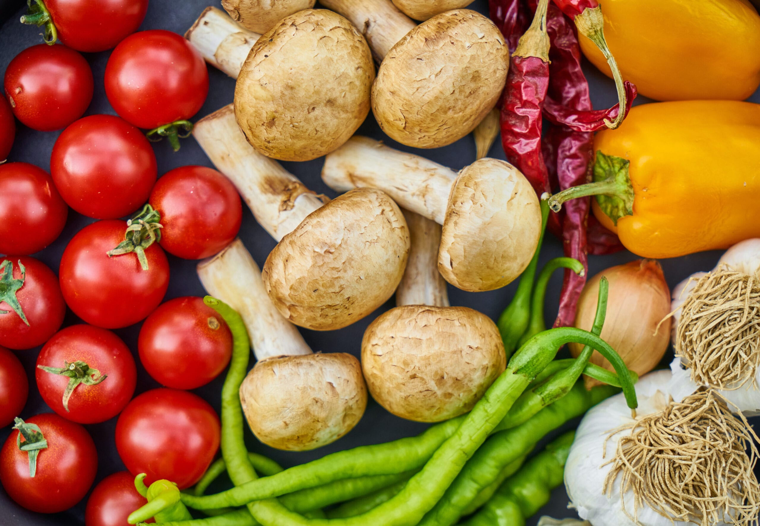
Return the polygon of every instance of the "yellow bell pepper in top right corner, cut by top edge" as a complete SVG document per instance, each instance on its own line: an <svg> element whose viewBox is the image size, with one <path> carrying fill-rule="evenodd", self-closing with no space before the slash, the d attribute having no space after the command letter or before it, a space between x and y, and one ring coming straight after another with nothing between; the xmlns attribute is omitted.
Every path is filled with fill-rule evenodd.
<svg viewBox="0 0 760 526"><path fill-rule="evenodd" d="M655 100L743 100L760 84L760 16L749 0L599 0L622 78ZM587 59L612 76L585 36Z"/></svg>

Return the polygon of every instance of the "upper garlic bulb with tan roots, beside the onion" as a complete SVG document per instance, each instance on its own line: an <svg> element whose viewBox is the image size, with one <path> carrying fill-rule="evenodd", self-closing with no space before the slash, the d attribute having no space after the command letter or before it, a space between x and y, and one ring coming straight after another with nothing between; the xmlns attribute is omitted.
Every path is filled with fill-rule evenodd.
<svg viewBox="0 0 760 526"><path fill-rule="evenodd" d="M711 277L712 281L708 283ZM713 285L721 277L726 283L723 289ZM736 286L730 287L731 282L735 283ZM752 290L749 290L749 300L746 284L754 284L752 289L755 292L752 293ZM691 366L692 364L687 357L695 357L695 351L692 350L692 347L695 346L692 345L689 349L684 349L679 344L679 327L682 337L691 335L692 340L696 337L695 333L699 331L696 325L693 328L680 325L682 309L687 299L694 293L695 287L699 286L699 290L704 290L705 287L711 287L711 285L717 290L717 293L712 295L705 293L705 300L702 303L706 308L716 309L716 303L724 302L721 312L717 312L716 315L726 318L727 322L721 321L722 318L713 320L703 315L701 316L701 324L709 326L712 331L722 329L730 334L722 340L712 336L709 338L702 337L703 340L709 340L713 348L710 356L701 356L702 362L708 362L706 366L703 366L703 363L699 364L701 369L707 369L706 372L701 372L697 370L696 366ZM743 288L739 288L739 286L743 286ZM692 307L689 312L689 320L700 319L691 312L698 309L698 306L693 305L693 299L687 305L687 307ZM727 306L725 302L732 300L733 310L728 312L731 306ZM679 397L690 395L700 385L708 385L717 388L731 404L734 404L744 414L748 416L760 414L760 367L757 366L758 359L760 359L760 312L758 312L760 309L758 309L758 304L760 304L760 239L746 239L736 243L721 256L713 271L709 273L697 272L678 284L673 290L673 302L670 307L673 311L671 340L676 349L676 358L670 364L670 369L673 371L670 391L674 395ZM730 318L730 315L733 315L733 318ZM732 322L735 325L732 326ZM694 324L695 322L692 321L691 323ZM741 334L740 329L742 328L738 326L740 324L745 326ZM731 353L732 344L735 344L737 340L741 341L744 347L736 350L735 353ZM702 347L707 348L708 345L703 344ZM702 350L702 353L705 351ZM754 374L752 369L754 369ZM725 382L721 381L720 375L724 375ZM721 389L720 387L726 388Z"/></svg>

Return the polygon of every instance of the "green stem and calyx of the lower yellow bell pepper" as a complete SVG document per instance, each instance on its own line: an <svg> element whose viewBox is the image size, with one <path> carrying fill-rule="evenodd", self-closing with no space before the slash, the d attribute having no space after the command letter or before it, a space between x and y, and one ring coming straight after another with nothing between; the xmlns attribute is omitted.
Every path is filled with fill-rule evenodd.
<svg viewBox="0 0 760 526"><path fill-rule="evenodd" d="M633 215L633 185L629 176L630 161L597 151L594 182L571 186L549 198L549 208L559 212L562 203L596 195L599 208L617 224L621 217Z"/></svg>

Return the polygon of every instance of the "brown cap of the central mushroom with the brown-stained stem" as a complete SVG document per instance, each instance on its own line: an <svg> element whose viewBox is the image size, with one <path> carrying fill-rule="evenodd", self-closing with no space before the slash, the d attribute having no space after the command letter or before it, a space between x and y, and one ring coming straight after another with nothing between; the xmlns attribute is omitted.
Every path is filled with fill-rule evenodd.
<svg viewBox="0 0 760 526"><path fill-rule="evenodd" d="M331 331L381 306L409 253L404 215L385 193L356 189L309 214L264 263L264 286L290 322Z"/></svg>

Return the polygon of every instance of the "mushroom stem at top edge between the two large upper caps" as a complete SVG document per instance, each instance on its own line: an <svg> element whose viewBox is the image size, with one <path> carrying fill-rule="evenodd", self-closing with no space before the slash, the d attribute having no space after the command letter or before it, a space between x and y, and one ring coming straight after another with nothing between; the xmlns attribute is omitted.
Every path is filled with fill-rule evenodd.
<svg viewBox="0 0 760 526"><path fill-rule="evenodd" d="M367 39L378 62L417 25L391 0L322 0L320 3L351 21Z"/></svg>

